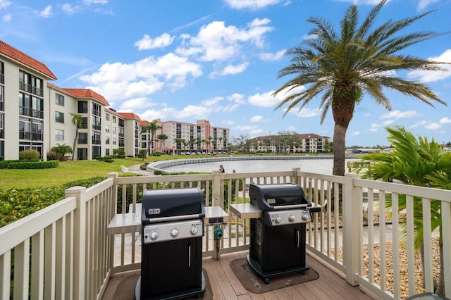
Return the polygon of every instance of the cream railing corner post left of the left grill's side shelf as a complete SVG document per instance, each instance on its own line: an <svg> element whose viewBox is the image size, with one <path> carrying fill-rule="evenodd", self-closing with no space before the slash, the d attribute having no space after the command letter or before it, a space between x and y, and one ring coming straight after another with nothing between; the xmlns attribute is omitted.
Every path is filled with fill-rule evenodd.
<svg viewBox="0 0 451 300"><path fill-rule="evenodd" d="M86 187L66 189L66 198L75 197L77 208L74 211L73 230L73 299L85 299L85 261L86 261Z"/></svg>

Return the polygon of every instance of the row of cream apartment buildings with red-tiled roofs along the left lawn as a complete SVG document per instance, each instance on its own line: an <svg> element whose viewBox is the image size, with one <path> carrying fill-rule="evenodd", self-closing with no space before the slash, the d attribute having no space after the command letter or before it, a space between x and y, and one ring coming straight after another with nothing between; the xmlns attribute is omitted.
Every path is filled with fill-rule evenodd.
<svg viewBox="0 0 451 300"><path fill-rule="evenodd" d="M75 144L72 155L77 160L112 155L115 149L136 156L151 148L166 153L227 148L229 130L212 127L207 120L158 120L161 130L156 136L164 133L168 139L152 142L150 133L142 133L149 121L109 108L104 96L91 89L58 87L51 80L56 76L46 65L0 41L0 160L18 159L19 151L26 149L36 149L47 159L57 144ZM78 128L74 115L81 118Z"/></svg>

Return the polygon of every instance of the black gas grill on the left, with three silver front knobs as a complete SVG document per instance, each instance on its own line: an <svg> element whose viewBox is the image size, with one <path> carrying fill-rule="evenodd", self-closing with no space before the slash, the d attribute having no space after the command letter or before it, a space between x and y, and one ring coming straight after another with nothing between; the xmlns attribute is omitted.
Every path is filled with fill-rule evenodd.
<svg viewBox="0 0 451 300"><path fill-rule="evenodd" d="M198 188L144 192L141 277L135 299L180 299L205 292L204 216Z"/></svg>

